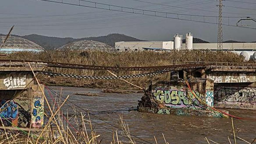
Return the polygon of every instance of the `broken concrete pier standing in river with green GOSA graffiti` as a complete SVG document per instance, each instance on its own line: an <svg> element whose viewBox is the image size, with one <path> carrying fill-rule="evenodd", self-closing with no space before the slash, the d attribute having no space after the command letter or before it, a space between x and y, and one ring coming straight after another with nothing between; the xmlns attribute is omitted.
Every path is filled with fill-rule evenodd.
<svg viewBox="0 0 256 144"><path fill-rule="evenodd" d="M184 80L154 82L152 87L148 88L150 91L141 98L138 104L138 111L173 115L223 117L221 113L209 109L209 106L214 106L213 80L189 78L188 81L195 95ZM225 112L228 113L228 111Z"/></svg>

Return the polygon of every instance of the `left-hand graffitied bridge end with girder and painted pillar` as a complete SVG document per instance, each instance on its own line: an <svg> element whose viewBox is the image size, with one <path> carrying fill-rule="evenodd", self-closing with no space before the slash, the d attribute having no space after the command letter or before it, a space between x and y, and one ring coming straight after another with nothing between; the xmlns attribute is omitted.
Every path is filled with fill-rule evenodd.
<svg viewBox="0 0 256 144"><path fill-rule="evenodd" d="M34 82L28 64L0 65L0 118L5 127L41 128L44 123L44 96ZM8 63L9 65L9 63ZM34 71L44 70L38 63L31 63ZM44 89L44 86L41 85ZM0 125L2 126L2 125Z"/></svg>

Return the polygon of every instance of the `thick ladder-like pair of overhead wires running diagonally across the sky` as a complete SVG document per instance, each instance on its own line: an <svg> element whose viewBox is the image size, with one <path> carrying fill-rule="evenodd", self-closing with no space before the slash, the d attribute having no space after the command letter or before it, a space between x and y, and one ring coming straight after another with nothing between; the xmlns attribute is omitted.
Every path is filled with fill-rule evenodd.
<svg viewBox="0 0 256 144"><path fill-rule="evenodd" d="M209 21L206 21L206 19L205 19L205 17L216 17L216 16L167 13L167 12L160 12L160 11L154 11L154 10L143 10L143 9L138 9L138 8L129 8L129 7L125 7L125 6L115 6L115 5L111 5L111 4L97 3L97 2L86 1L86 0L77 0L77 2L78 2L77 4L60 2L60 1L52 1L52 0L36 0L36 1L47 1L47 2L61 3L61 4L81 6L81 7L87 7L87 8L97 8L97 9L103 9L103 10L118 11L118 12L123 12L123 13L133 13L133 14L139 14L139 15L149 15L149 16L155 16L155 17L169 18L169 19L179 19L179 20L190 21L190 22L218 24L217 19L216 19L216 22L209 22ZM81 2L88 2L91 5L82 5ZM99 6L105 6L105 7L99 7ZM170 15L176 15L176 16L170 17ZM180 16L188 16L189 18L187 18L187 19L181 18ZM203 20L201 20L201 21L195 20L195 19L193 19L193 17L201 17ZM218 17L216 17L216 18L218 18ZM237 26L237 25L230 25L230 24L222 24L222 25L247 28L247 29L256 29L256 28L252 28L252 27Z"/></svg>

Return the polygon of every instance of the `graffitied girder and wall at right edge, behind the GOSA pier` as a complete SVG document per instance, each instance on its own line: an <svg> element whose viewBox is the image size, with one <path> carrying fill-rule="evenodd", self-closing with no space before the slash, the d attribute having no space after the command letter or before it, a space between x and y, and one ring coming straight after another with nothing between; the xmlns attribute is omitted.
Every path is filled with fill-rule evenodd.
<svg viewBox="0 0 256 144"><path fill-rule="evenodd" d="M186 71L187 72L187 71ZM245 68L206 68L189 70L187 77L214 81L214 106L256 110L256 70Z"/></svg>

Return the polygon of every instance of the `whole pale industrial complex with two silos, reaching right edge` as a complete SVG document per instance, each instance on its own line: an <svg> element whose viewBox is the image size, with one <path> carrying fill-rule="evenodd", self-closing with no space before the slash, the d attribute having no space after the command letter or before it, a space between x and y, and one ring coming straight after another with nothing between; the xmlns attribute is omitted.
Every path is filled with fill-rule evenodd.
<svg viewBox="0 0 256 144"><path fill-rule="evenodd" d="M118 51L137 51L137 50L217 50L217 43L193 43L193 34L186 33L186 43L182 43L182 35L175 34L173 41L145 41L145 42L115 42L115 49ZM233 51L243 55L245 60L256 59L256 43L223 43L224 51Z"/></svg>

